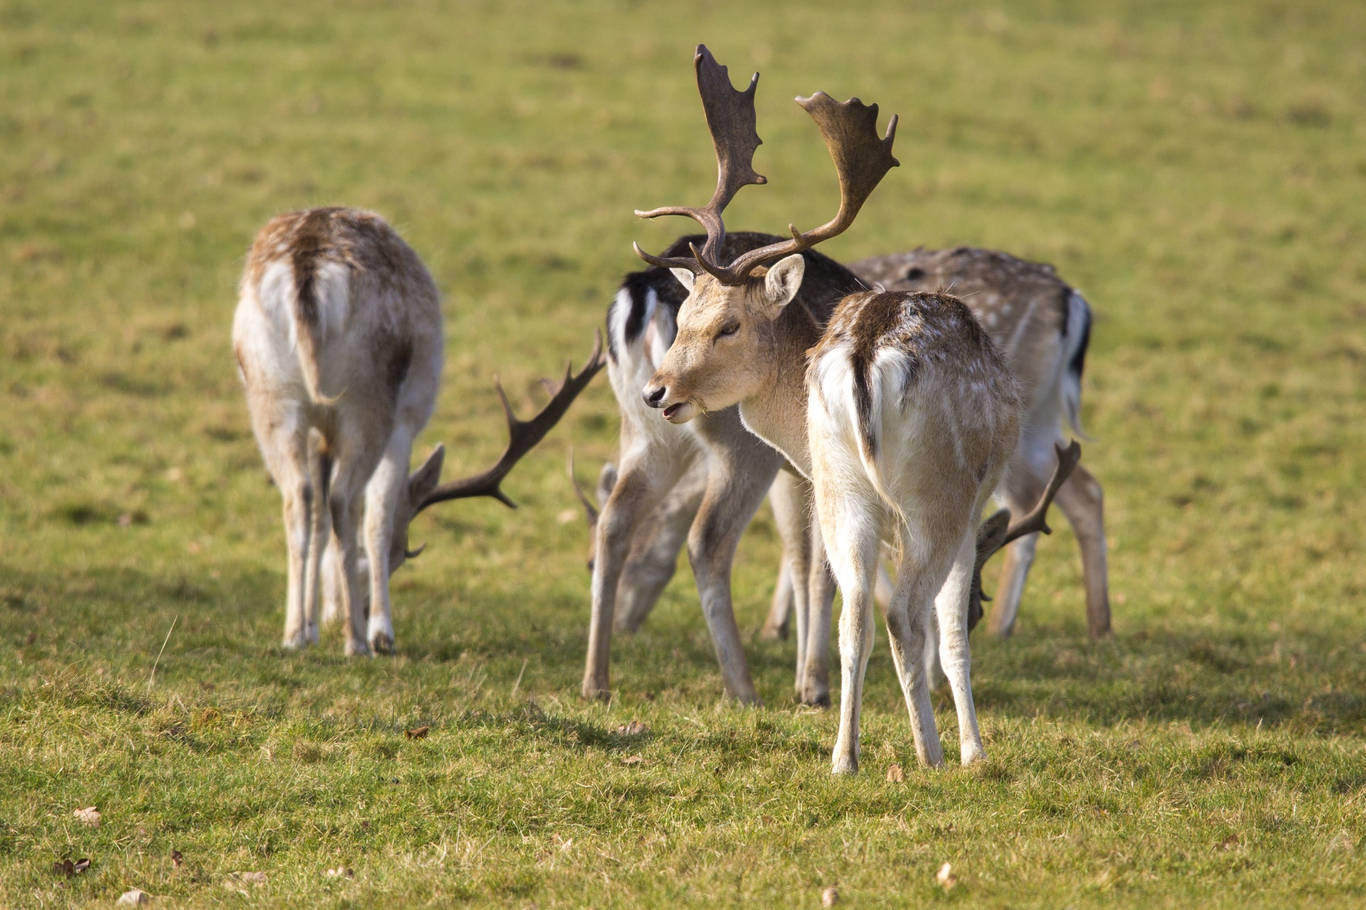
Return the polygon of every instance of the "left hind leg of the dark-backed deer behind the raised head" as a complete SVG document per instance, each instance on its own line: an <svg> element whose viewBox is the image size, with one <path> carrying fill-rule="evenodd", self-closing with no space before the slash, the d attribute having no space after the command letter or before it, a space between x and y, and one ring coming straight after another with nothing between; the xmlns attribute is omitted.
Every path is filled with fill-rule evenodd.
<svg viewBox="0 0 1366 910"><path fill-rule="evenodd" d="M612 660L612 621L617 589L632 539L645 520L676 483L695 452L678 453L663 446L638 446L623 453L616 486L602 505L593 562L593 611L589 618L589 649L583 667L583 697L611 696L608 669Z"/></svg>

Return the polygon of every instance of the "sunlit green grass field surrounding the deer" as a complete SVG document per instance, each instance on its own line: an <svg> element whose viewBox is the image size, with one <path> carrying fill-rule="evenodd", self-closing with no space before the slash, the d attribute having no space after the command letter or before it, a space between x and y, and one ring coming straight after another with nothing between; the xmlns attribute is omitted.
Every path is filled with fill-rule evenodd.
<svg viewBox="0 0 1366 910"><path fill-rule="evenodd" d="M1366 7L907 5L0 0L0 903L1361 906ZM602 381L505 484L518 512L414 525L395 658L279 647L228 344L254 231L342 203L404 233L447 312L422 452L470 473L503 445L492 374L538 407L630 241L680 229L631 210L710 191L698 41L764 72L770 184L734 228L833 211L790 98L858 94L900 115L902 168L832 255L999 247L1098 312L1116 633L1087 640L1059 529L1016 636L974 636L981 765L941 694L948 767L914 768L880 633L863 774L832 779L790 644L750 647L768 707L721 700L686 559L613 701L578 699L564 456L613 457ZM746 633L776 559L761 513Z"/></svg>

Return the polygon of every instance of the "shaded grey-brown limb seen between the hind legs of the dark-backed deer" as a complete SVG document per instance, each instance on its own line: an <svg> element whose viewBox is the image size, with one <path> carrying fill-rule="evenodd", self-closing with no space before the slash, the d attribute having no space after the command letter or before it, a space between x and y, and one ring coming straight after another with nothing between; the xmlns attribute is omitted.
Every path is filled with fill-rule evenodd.
<svg viewBox="0 0 1366 910"><path fill-rule="evenodd" d="M637 632L678 569L679 553L687 543L688 528L706 493L706 460L697 458L664 501L645 520L646 533L638 535L622 569L613 628Z"/></svg>

